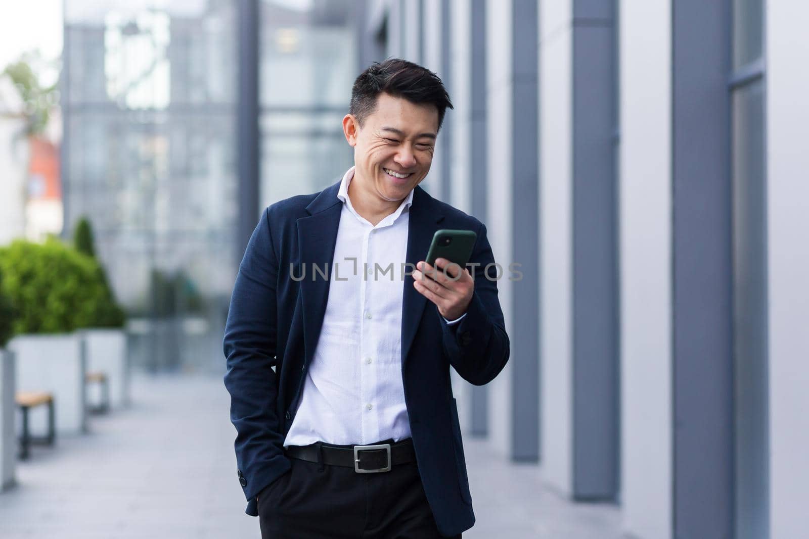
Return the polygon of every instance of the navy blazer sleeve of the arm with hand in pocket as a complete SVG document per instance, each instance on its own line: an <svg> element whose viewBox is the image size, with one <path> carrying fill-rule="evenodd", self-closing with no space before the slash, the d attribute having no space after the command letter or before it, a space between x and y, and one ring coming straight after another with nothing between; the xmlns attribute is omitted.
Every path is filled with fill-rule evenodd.
<svg viewBox="0 0 809 539"><path fill-rule="evenodd" d="M277 417L276 286L278 259L265 209L239 264L223 348L224 381L231 394L231 423L239 483L256 516L256 494L290 470Z"/></svg>

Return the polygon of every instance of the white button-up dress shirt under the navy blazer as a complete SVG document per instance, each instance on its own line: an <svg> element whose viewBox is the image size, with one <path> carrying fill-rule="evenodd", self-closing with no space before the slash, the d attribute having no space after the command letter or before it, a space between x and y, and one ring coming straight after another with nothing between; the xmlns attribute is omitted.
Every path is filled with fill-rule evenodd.
<svg viewBox="0 0 809 539"><path fill-rule="evenodd" d="M372 444L410 436L401 373L401 323L413 191L395 212L371 225L349 199L353 178L354 166L337 192L343 208L326 312L284 447L317 441Z"/></svg>

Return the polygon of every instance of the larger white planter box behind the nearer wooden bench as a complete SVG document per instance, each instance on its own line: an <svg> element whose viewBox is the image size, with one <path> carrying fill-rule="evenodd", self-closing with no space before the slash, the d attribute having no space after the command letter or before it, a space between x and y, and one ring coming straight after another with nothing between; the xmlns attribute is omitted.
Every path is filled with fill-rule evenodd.
<svg viewBox="0 0 809 539"><path fill-rule="evenodd" d="M57 433L87 432L87 354L83 335L19 335L8 347L17 356L17 390L53 394ZM28 421L32 435L44 435L48 430L47 407L32 409Z"/></svg>

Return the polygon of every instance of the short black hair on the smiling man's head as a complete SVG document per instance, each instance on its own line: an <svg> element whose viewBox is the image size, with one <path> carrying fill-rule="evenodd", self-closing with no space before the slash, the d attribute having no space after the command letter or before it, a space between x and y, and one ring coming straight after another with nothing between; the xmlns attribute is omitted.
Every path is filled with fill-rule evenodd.
<svg viewBox="0 0 809 539"><path fill-rule="evenodd" d="M368 115L376 109L379 94L407 99L410 103L431 103L438 108L438 129L444 121L447 107L452 108L443 82L430 69L401 58L375 61L354 81L349 112L362 127Z"/></svg>

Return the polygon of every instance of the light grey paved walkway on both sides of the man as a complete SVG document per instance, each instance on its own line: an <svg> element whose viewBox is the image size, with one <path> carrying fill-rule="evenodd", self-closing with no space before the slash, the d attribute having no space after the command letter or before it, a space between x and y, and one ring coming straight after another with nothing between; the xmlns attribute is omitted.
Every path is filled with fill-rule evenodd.
<svg viewBox="0 0 809 539"><path fill-rule="evenodd" d="M91 432L35 446L0 494L3 539L260 537L235 478L235 429L221 376L133 379L133 406L91 416ZM477 524L465 539L617 539L610 504L570 503L485 440L464 438Z"/></svg>

